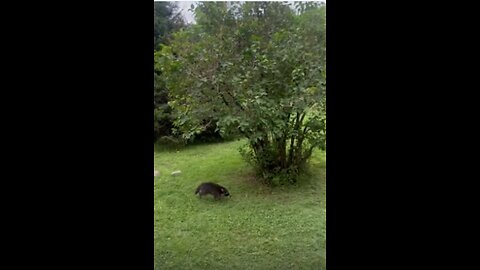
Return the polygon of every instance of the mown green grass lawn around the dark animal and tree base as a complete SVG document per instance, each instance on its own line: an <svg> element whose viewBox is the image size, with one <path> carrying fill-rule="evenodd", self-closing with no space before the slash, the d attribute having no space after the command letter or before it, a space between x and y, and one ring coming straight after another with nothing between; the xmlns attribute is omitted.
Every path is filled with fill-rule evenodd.
<svg viewBox="0 0 480 270"><path fill-rule="evenodd" d="M268 188L254 181L242 144L155 147L155 269L325 269L325 153L298 185ZM203 181L232 197L197 198Z"/></svg>

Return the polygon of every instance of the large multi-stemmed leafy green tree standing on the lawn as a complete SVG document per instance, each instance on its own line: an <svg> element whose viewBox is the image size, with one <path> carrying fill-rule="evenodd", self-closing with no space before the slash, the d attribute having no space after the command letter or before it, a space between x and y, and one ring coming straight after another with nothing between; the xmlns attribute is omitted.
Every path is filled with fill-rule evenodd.
<svg viewBox="0 0 480 270"><path fill-rule="evenodd" d="M218 119L248 140L242 154L271 184L295 182L325 149L325 5L203 2L197 25L160 52L175 126L185 137Z"/></svg>

